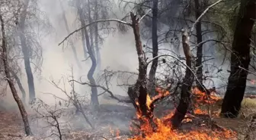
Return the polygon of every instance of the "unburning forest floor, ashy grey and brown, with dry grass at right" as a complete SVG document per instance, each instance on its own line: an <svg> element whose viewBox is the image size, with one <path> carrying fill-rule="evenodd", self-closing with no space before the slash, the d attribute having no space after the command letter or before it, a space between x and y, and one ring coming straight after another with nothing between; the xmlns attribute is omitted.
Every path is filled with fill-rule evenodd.
<svg viewBox="0 0 256 140"><path fill-rule="evenodd" d="M221 101L213 106L213 110L220 110ZM238 132L239 138L245 135L245 130L248 128L248 123L251 120L252 113L256 112L256 99L245 98L242 102L242 114L235 119L225 119L221 117L213 117L213 120L219 126L227 129L232 129ZM30 115L30 110L28 110ZM87 114L91 114L87 112ZM126 139L130 135L130 120L135 116L135 111L132 107L123 107L116 104L104 104L98 113L93 113L94 124L98 126L96 130L91 131L89 128L85 129L88 125L82 118L72 118L72 126L69 129L63 129L65 138L69 140L80 139L118 139L117 135L121 135L119 139ZM18 110L6 110L0 105L0 140L36 140L36 139L57 139L47 137L53 132L53 129L44 128L35 122L30 123L31 129L35 136L25 137L24 128L22 125L21 115ZM80 126L79 126L80 125ZM66 125L67 127L67 125ZM80 128L79 128L80 127ZM71 129L72 128L72 129ZM118 133L118 134L117 134Z"/></svg>

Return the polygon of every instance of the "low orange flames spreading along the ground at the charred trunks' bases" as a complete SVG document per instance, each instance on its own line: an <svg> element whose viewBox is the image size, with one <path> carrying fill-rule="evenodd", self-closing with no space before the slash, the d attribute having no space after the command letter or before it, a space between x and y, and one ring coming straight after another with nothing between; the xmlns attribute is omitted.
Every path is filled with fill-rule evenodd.
<svg viewBox="0 0 256 140"><path fill-rule="evenodd" d="M142 134L137 135L134 138L130 138L129 140L222 140L222 139L235 139L236 133L232 132L229 129L210 129L203 126L194 126L195 129L186 129L186 130L178 130L172 129L170 124L171 115L168 117L160 119L155 119L154 123L157 126L155 131L152 129L149 121L144 123L139 129ZM190 122L191 120L187 119L183 122ZM191 123L187 124L192 126ZM134 129L132 130L134 131ZM138 131L138 130L137 130Z"/></svg>

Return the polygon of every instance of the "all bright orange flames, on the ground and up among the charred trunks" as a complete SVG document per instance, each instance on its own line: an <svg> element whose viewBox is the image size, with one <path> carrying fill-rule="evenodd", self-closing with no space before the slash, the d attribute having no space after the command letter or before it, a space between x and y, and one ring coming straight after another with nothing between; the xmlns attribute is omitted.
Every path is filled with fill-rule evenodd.
<svg viewBox="0 0 256 140"><path fill-rule="evenodd" d="M160 98L163 95L170 94L168 91L156 89L158 92L158 95L156 95L153 98L150 98L149 95L147 96L147 106L150 107L152 104L152 101L155 100L155 98ZM213 104L214 101L218 100L218 97L215 97L214 95L210 96L210 101L206 101L206 98L204 97L205 94L203 92L200 92L198 89L193 90L194 95L200 96L200 98L197 98L197 103L207 103L207 104ZM136 104L139 105L138 102ZM194 110L195 114L207 114L206 111L200 110L199 108L196 108ZM181 139L187 139L187 140L219 140L219 139L232 139L235 138L235 133L228 130L228 129L210 129L209 127L203 127L198 126L197 129L189 129L189 130L178 130L174 129L171 126L171 117L173 116L174 111L171 111L170 114L166 115L162 119L154 118L152 119L153 123L155 123L155 126L152 126L151 120L147 119L146 117L142 117L141 112L137 111L137 117L138 119L142 120L144 123L142 123L139 127L139 129L131 128L133 132L141 132L140 135L137 135L134 138L130 138L130 140L155 140L155 139L162 139L162 140L181 140ZM182 123L188 123L192 122L193 120L190 117L184 118ZM155 128L154 128L155 127Z"/></svg>

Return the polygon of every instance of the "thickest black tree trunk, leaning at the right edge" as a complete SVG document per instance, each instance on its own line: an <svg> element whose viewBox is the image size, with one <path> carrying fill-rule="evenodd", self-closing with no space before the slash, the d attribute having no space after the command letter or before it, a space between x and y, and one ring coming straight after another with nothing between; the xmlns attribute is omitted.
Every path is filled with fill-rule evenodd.
<svg viewBox="0 0 256 140"><path fill-rule="evenodd" d="M231 72L222 103L221 114L223 117L238 116L245 94L250 63L251 30L254 26L254 20L251 18L256 18L256 2L254 0L241 0L232 43Z"/></svg>

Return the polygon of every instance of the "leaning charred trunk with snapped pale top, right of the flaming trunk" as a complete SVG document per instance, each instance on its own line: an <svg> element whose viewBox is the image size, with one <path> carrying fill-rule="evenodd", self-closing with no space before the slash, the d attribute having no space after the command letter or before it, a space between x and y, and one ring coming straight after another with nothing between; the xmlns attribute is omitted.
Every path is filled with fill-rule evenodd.
<svg viewBox="0 0 256 140"><path fill-rule="evenodd" d="M181 121L184 119L187 113L187 109L190 104L190 89L194 81L194 75L193 72L191 71L193 56L190 51L189 36L186 30L182 31L182 45L186 57L187 68L181 86L181 100L178 104L177 109L175 110L174 116L171 118L171 123L174 126L174 128L180 126Z"/></svg>

